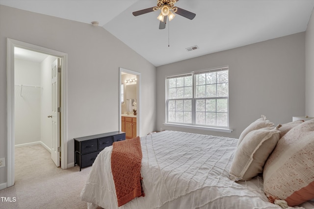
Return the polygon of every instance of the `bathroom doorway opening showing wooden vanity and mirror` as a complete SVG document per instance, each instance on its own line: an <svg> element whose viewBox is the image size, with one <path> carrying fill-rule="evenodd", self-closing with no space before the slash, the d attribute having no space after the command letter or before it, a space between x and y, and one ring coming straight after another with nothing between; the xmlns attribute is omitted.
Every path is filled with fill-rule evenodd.
<svg viewBox="0 0 314 209"><path fill-rule="evenodd" d="M119 130L126 138L141 136L141 74L120 68Z"/></svg>

